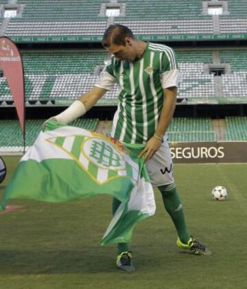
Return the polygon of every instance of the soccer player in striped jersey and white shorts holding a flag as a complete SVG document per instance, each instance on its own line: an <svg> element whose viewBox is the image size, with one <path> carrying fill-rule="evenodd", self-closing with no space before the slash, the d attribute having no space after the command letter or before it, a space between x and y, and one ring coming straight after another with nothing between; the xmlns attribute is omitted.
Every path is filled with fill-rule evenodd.
<svg viewBox="0 0 247 289"><path fill-rule="evenodd" d="M187 230L165 135L176 107L178 87L178 64L173 49L139 41L128 27L119 24L106 29L102 45L112 57L99 81L91 91L53 119L67 124L84 115L117 82L121 91L112 137L124 143L144 144L139 157L144 157L152 185L162 194L165 209L178 233L178 247L189 249L196 255L211 255L209 248L195 240ZM113 198L113 213L119 205L119 200ZM118 244L117 249L117 268L133 272L135 268L128 244Z"/></svg>

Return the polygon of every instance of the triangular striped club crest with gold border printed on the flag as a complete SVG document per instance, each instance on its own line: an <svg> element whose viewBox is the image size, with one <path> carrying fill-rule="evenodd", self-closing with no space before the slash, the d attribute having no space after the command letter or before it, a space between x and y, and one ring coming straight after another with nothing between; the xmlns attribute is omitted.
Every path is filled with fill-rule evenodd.
<svg viewBox="0 0 247 289"><path fill-rule="evenodd" d="M97 132L91 136L67 135L45 141L69 154L99 185L123 176L134 179L134 168L124 158L123 146Z"/></svg>

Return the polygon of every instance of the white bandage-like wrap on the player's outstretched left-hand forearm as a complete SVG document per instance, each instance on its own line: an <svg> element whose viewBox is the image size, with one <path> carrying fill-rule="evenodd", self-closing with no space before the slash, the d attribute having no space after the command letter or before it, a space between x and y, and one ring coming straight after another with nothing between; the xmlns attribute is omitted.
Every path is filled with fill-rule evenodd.
<svg viewBox="0 0 247 289"><path fill-rule="evenodd" d="M54 116L61 124L69 124L73 120L77 119L81 115L86 113L86 108L80 100L75 100L65 111L62 111L59 115Z"/></svg>

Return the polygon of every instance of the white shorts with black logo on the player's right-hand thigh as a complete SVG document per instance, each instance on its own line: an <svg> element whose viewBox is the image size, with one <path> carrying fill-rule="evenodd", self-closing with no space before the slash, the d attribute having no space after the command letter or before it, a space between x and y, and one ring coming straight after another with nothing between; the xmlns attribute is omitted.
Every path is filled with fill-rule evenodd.
<svg viewBox="0 0 247 289"><path fill-rule="evenodd" d="M153 187L174 183L172 156L166 140L146 166Z"/></svg>

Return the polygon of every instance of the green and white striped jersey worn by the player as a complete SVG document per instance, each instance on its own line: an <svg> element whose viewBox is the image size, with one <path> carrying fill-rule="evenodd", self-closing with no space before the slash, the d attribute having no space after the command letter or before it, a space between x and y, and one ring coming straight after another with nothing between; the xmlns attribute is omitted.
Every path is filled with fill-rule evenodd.
<svg viewBox="0 0 247 289"><path fill-rule="evenodd" d="M125 143L146 143L158 126L163 89L178 86L178 64L172 48L147 43L139 60L111 58L95 86L113 89L119 83L119 104L112 137Z"/></svg>

